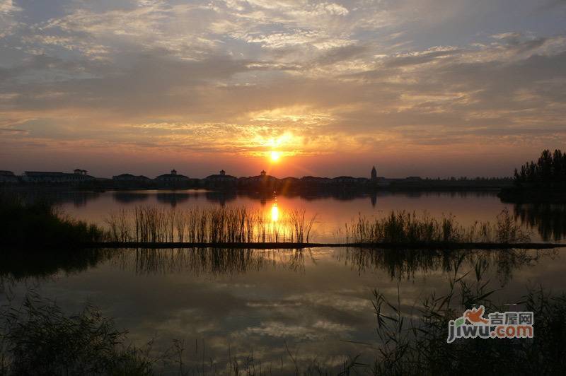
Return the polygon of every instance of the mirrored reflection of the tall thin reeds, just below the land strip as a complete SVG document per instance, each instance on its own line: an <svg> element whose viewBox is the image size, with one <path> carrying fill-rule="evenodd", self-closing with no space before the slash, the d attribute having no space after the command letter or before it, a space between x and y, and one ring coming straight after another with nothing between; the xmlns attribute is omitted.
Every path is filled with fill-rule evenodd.
<svg viewBox="0 0 566 376"><path fill-rule="evenodd" d="M300 249L136 249L118 255L123 269L137 274L243 274L248 271L287 269L304 271L304 250Z"/></svg>

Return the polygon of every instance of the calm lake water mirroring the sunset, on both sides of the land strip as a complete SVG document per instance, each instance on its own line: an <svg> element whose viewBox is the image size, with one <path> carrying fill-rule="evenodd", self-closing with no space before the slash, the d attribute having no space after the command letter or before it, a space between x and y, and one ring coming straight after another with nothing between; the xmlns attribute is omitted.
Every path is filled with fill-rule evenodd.
<svg viewBox="0 0 566 376"><path fill-rule="evenodd" d="M533 240L562 241L564 208L503 204L492 193L379 193L374 196L240 196L215 192L59 193L69 215L103 224L110 211L151 204L176 209L250 206L268 216L304 208L318 214L314 237L333 241L337 228L359 216L391 210L451 213L465 225L493 221L507 208ZM274 213L274 205L279 213ZM562 215L560 215L562 213ZM100 307L154 351L183 340L187 368L221 372L226 361L253 358L255 368L291 372L293 359L340 370L348 356L371 362L379 339L374 290L409 317L431 293L449 291L463 276L470 286L487 282L492 298L516 310L529 288L563 291L566 259L560 250L417 251L320 247L258 249L91 250L71 259L45 255L0 266L0 301L17 304L33 290L68 312ZM475 270L482 271L476 281ZM175 372L165 363L160 372Z"/></svg>

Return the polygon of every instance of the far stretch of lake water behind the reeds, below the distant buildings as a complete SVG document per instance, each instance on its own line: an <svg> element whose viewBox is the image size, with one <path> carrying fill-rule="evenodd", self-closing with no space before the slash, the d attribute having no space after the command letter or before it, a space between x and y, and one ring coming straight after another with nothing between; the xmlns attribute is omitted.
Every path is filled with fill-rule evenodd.
<svg viewBox="0 0 566 376"><path fill-rule="evenodd" d="M453 215L462 225L475 221L494 222L507 208L516 221L531 231L533 241L560 242L566 235L565 205L514 205L504 204L496 192L414 192L376 194L335 194L275 196L235 194L204 191L134 191L87 193L71 192L57 196L62 208L75 218L105 224L110 213L136 206L161 206L183 210L207 206L246 206L265 213L270 221L277 221L289 211L306 210L306 218L316 215L312 240L333 242L343 240L337 230L358 216L386 216L391 211L407 210L441 218Z"/></svg>

